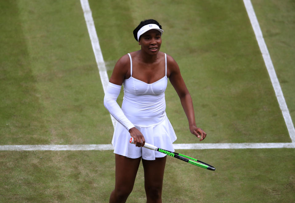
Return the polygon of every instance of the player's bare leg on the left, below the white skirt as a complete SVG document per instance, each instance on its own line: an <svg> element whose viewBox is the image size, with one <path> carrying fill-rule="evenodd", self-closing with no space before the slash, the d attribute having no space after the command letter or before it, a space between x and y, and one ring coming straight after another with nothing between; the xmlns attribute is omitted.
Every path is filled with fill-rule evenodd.
<svg viewBox="0 0 295 203"><path fill-rule="evenodd" d="M140 158L131 159L115 154L115 189L110 195L110 202L126 202L131 193L140 164Z"/></svg>

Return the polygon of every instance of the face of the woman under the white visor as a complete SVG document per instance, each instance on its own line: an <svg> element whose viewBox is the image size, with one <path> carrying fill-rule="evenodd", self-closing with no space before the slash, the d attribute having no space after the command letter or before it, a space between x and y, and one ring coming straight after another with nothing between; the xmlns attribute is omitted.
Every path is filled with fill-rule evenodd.
<svg viewBox="0 0 295 203"><path fill-rule="evenodd" d="M155 55L159 52L162 39L158 30L149 30L140 36L138 44L141 45L142 51Z"/></svg>

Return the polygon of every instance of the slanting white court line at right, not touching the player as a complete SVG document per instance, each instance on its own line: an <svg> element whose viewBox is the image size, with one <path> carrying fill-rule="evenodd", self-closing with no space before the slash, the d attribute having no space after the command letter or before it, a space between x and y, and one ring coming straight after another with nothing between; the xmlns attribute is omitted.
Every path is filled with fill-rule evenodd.
<svg viewBox="0 0 295 203"><path fill-rule="evenodd" d="M277 74L276 74L276 71L274 70L273 62L270 58L269 51L266 47L261 29L260 29L260 26L259 26L259 23L258 23L258 20L256 17L256 14L254 12L251 1L250 0L243 0L243 1L245 4L251 25L253 27L255 37L257 39L262 57L264 59L264 63L267 68L271 83L273 85L273 89L274 89L275 94L277 96L277 101L278 101L281 111L283 113L283 117L284 117L286 126L288 128L289 136L290 136L292 142L294 143L295 142L295 128L294 128L292 118L290 116L289 109L287 107L287 104L286 104L286 101L285 101L285 98L284 98L284 95L283 95L283 92L281 89L281 85L279 83L279 80L277 79Z"/></svg>

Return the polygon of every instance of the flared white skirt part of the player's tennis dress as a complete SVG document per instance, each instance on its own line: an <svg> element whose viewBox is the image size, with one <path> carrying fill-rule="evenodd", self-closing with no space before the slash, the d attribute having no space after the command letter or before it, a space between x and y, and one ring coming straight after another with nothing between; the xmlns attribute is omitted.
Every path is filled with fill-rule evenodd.
<svg viewBox="0 0 295 203"><path fill-rule="evenodd" d="M165 116L165 119L161 123L155 126L135 127L142 133L146 143L174 152L172 143L177 137L167 116ZM145 160L155 160L156 157L166 156L166 154L161 152L143 147L136 147L135 144L129 143L130 138L130 133L126 128L117 122L112 140L112 144L115 148L114 153L133 159L142 157L142 159Z"/></svg>

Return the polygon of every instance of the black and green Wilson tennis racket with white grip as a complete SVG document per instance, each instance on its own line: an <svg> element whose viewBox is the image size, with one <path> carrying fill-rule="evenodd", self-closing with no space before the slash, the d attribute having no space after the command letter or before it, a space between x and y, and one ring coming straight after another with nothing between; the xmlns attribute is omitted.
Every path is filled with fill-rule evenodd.
<svg viewBox="0 0 295 203"><path fill-rule="evenodd" d="M131 137L130 138L130 141L129 141L131 144L134 144L134 140L133 138ZM145 145L143 146L147 149L151 149L151 150L155 150L155 151L158 151L158 152L162 152L164 154L167 154L169 156L172 156L174 158L177 158L177 159L180 159L180 160L183 160L187 163L190 163L190 164L193 164L195 166L199 166L201 168L206 168L208 170L211 170L211 171L215 171L215 168L209 164L206 164L200 160L197 160L197 159L194 159L192 157L189 157L189 156L185 156L183 154L178 154L176 152L170 152L168 150L165 150L165 149L161 149L161 148L157 148L156 146L152 145L152 144L149 144L149 143L145 143Z"/></svg>

